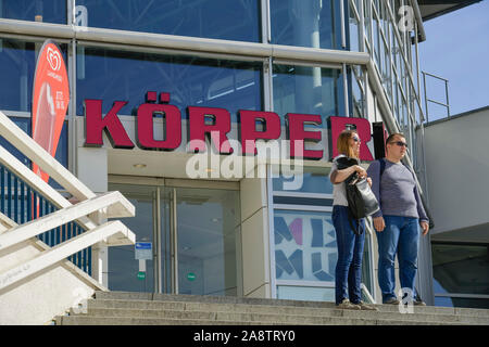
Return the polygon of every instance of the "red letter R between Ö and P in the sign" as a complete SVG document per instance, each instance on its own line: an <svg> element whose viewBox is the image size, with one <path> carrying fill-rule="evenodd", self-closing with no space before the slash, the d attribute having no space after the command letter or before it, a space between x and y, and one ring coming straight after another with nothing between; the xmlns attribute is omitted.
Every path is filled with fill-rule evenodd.
<svg viewBox="0 0 489 347"><path fill-rule="evenodd" d="M205 152L205 133L211 136L211 141L221 154L230 154L233 149L226 137L230 131L230 115L225 108L188 106L189 142L190 151ZM212 125L205 124L205 116L213 119Z"/></svg>

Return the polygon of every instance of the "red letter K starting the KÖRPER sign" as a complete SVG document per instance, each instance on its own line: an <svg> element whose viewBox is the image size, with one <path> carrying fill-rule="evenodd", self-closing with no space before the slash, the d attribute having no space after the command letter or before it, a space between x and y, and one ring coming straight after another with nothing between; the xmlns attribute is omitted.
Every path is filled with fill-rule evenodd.
<svg viewBox="0 0 489 347"><path fill-rule="evenodd" d="M115 149L133 149L134 143L124 130L117 112L127 104L127 101L116 101L111 111L102 119L102 101L85 100L85 132L86 146L102 146L102 131L105 133Z"/></svg>

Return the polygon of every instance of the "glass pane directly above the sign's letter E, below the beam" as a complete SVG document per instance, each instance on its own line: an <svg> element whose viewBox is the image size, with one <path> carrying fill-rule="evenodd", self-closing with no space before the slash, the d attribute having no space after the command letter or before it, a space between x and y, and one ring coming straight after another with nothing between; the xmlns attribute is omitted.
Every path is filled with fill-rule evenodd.
<svg viewBox="0 0 489 347"><path fill-rule="evenodd" d="M287 113L318 114L323 127L328 116L344 115L342 75L339 69L274 65L274 111Z"/></svg>

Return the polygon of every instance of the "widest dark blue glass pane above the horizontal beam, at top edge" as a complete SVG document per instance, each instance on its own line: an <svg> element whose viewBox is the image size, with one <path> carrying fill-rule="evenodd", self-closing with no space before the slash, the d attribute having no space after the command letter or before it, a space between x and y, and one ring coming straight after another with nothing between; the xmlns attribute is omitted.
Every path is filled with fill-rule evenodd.
<svg viewBox="0 0 489 347"><path fill-rule="evenodd" d="M77 0L76 5L91 27L259 42L259 2Z"/></svg>

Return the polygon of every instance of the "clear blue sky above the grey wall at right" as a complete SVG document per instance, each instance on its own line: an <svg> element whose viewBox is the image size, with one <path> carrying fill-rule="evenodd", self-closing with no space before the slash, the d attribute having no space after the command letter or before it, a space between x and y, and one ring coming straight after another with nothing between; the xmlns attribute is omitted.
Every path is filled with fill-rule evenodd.
<svg viewBox="0 0 489 347"><path fill-rule="evenodd" d="M489 0L427 21L424 27L419 67L449 80L450 114L489 106ZM427 78L427 92L444 102L442 82ZM434 103L428 111L429 120L447 114Z"/></svg>

